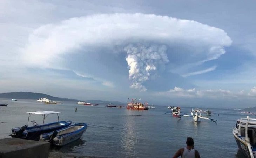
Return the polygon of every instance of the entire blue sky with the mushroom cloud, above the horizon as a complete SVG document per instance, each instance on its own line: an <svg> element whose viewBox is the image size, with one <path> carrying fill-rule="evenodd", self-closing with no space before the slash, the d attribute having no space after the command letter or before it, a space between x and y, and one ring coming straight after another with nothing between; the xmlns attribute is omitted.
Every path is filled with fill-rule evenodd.
<svg viewBox="0 0 256 158"><path fill-rule="evenodd" d="M255 5L1 1L0 92L255 106Z"/></svg>

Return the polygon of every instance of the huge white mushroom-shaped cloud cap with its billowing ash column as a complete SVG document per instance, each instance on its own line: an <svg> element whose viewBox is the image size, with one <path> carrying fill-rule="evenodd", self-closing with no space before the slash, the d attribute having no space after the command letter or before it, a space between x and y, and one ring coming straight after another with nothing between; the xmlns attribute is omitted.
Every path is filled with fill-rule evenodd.
<svg viewBox="0 0 256 158"><path fill-rule="evenodd" d="M224 47L230 46L231 42L225 31L196 21L140 13L97 14L35 29L29 35L21 59L28 66L69 69L65 64L65 54L76 53L78 49L86 53L99 47L119 47L118 50L125 47L131 87L146 90L143 82L169 62L168 48L187 47L191 50L186 55L190 59L187 61L200 64L219 58L225 53Z"/></svg>

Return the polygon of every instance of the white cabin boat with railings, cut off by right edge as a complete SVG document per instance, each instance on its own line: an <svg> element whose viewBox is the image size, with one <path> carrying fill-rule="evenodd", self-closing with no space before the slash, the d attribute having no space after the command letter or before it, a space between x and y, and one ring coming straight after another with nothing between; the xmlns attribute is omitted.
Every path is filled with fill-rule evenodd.
<svg viewBox="0 0 256 158"><path fill-rule="evenodd" d="M232 128L238 148L248 158L256 157L256 119L240 118Z"/></svg>

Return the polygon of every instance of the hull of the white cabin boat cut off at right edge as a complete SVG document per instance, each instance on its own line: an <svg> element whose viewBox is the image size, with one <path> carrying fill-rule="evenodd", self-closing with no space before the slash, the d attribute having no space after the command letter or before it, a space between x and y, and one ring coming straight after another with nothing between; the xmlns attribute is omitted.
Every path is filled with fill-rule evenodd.
<svg viewBox="0 0 256 158"><path fill-rule="evenodd" d="M254 158L254 154L251 150L251 145L250 143L246 143L244 142L241 138L239 138L238 136L236 136L233 133L235 140L236 140L236 144L239 148L239 150L247 157L247 158Z"/></svg>

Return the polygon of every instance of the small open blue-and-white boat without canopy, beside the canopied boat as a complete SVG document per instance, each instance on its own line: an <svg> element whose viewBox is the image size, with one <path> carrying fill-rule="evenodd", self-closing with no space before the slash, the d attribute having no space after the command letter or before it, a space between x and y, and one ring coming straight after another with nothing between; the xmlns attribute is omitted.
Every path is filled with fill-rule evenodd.
<svg viewBox="0 0 256 158"><path fill-rule="evenodd" d="M40 141L50 142L56 146L64 146L78 140L86 129L87 125L85 123L76 123L50 133L44 133L40 136Z"/></svg>

